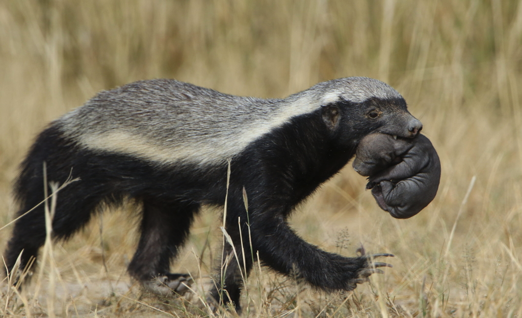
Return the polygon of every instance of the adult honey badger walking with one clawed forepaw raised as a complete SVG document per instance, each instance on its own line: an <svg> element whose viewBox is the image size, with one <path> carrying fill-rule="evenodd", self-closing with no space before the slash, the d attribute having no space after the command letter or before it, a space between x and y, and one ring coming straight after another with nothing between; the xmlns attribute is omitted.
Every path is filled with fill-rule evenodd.
<svg viewBox="0 0 522 318"><path fill-rule="evenodd" d="M18 215L44 198L43 162L50 181L80 179L57 196L55 239L84 227L101 204L133 198L143 216L128 272L149 289L176 291L187 276L170 273L170 262L194 216L201 205L224 205L228 195L226 230L240 264L230 262L215 279L212 299L240 309L240 270L253 265L251 249L242 249L250 246L247 220L252 251L264 265L326 291L352 290L388 264L364 253L322 251L299 238L288 217L345 166L364 136L413 138L421 128L396 90L365 77L325 81L285 99L232 96L172 79L137 81L98 93L40 133L15 182ZM20 269L36 258L44 240L39 206L15 223L8 271L20 253ZM224 253L233 253L228 243Z"/></svg>

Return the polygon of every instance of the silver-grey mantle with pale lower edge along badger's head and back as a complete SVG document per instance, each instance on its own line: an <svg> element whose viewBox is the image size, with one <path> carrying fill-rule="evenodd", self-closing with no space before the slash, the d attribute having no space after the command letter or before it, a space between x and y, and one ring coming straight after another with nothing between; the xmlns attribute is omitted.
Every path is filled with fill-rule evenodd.
<svg viewBox="0 0 522 318"><path fill-rule="evenodd" d="M325 81L286 99L232 96L173 79L102 91L53 125L82 147L169 164L219 164L291 117L346 100L402 98L366 77Z"/></svg>

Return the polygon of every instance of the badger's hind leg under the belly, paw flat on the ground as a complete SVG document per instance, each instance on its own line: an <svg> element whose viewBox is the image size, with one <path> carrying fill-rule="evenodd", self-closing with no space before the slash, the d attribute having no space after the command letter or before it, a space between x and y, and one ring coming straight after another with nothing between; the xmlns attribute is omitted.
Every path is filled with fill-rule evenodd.
<svg viewBox="0 0 522 318"><path fill-rule="evenodd" d="M192 283L189 274L170 273L170 262L188 237L199 204L143 199L138 248L129 274L147 291L160 296L184 293Z"/></svg>

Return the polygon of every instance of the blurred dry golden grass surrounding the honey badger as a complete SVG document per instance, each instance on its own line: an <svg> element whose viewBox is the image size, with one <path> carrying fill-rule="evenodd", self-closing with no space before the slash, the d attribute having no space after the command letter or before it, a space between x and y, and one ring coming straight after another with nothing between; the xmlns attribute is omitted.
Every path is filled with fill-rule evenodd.
<svg viewBox="0 0 522 318"><path fill-rule="evenodd" d="M299 208L293 227L328 251L353 255L362 242L394 253L394 268L333 295L256 272L245 311L522 316L522 1L3 0L0 226L15 213L10 184L35 134L99 90L168 77L283 98L346 76L386 81L406 98L441 157L438 195L416 217L395 220L345 168ZM201 215L175 269L208 276L219 215ZM135 235L127 219L125 211L104 214L103 244L94 220L55 245L55 264L23 295L2 283L0 316L208 314L190 307L197 297L167 302L129 289ZM9 234L0 231L2 251ZM34 286L43 292L34 295Z"/></svg>

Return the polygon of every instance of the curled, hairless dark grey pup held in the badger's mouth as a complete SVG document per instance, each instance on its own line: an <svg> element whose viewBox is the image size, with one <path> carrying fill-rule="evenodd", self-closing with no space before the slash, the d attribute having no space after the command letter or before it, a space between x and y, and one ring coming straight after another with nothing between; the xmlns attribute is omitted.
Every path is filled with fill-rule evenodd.
<svg viewBox="0 0 522 318"><path fill-rule="evenodd" d="M441 162L423 135L404 139L370 134L357 148L353 169L369 176L366 189L379 207L398 219L418 214L432 202L441 179Z"/></svg>

